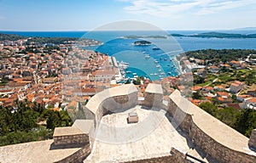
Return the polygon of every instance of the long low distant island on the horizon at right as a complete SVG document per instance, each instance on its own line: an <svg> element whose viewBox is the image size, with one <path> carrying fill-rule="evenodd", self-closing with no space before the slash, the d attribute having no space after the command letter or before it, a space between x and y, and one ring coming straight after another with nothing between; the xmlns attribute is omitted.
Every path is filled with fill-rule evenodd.
<svg viewBox="0 0 256 163"><path fill-rule="evenodd" d="M181 34L171 34L172 37L202 37L202 38L256 38L256 34L234 34L234 33L222 33L222 32L206 32L206 33L199 33L195 35L181 35Z"/></svg>

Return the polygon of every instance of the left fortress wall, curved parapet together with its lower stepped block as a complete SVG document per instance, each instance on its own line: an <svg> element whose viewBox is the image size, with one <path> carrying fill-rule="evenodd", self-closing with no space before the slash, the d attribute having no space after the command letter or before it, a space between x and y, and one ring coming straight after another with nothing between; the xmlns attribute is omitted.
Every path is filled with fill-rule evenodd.
<svg viewBox="0 0 256 163"><path fill-rule="evenodd" d="M81 162L90 155L102 116L109 112L121 112L135 107L137 92L133 84L126 84L97 93L85 106L87 120L75 121L71 127L56 127L54 133L56 146L83 144L79 151L57 162Z"/></svg>

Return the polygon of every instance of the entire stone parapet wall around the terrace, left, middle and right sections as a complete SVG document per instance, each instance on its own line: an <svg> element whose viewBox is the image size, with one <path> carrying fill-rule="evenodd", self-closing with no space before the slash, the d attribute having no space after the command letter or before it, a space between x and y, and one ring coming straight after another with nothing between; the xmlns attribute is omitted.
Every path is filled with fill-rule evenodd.
<svg viewBox="0 0 256 163"><path fill-rule="evenodd" d="M163 105L163 93L160 85L149 84L145 91L145 98L141 104L148 107ZM84 143L83 148L58 162L77 162L84 160L90 155L93 147L96 129L103 115L111 112L124 111L138 104L137 88L132 84L113 87L101 93L97 93L86 104L85 113L89 120L75 121L73 132L65 132L65 128L56 128L54 140L55 144ZM188 110L186 110L188 108ZM120 110L121 109L121 110ZM212 158L219 162L255 162L256 153L248 148L248 138L242 136L229 126L225 126L211 115L191 104L181 97L178 91L169 97L167 114L173 117L177 126L187 132L189 138L197 146L203 149ZM86 125L85 125L86 124ZM85 128L84 128L85 127ZM68 128L67 128L68 129ZM85 134L85 135L84 135ZM256 135L256 134L255 134ZM255 135L253 138L255 138ZM84 140L80 138L84 138ZM78 138L78 140L73 140ZM255 141L250 141L252 146ZM74 161L76 160L76 161ZM106 161L108 162L108 161ZM136 162L189 162L187 156L177 149L171 149L170 155L156 156L150 159L136 159L123 161L124 163Z"/></svg>

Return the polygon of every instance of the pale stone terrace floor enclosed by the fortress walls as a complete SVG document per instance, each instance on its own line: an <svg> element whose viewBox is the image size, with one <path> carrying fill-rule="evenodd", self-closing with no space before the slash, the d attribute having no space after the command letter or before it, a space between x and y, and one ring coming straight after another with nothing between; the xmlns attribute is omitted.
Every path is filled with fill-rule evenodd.
<svg viewBox="0 0 256 163"><path fill-rule="evenodd" d="M128 113L136 111L138 123L128 124ZM102 117L89 162L119 162L170 155L171 147L188 152L189 144L182 132L176 130L166 117L165 110L143 109L137 105L131 110ZM197 158L201 156L193 152ZM207 160L205 160L207 161Z"/></svg>

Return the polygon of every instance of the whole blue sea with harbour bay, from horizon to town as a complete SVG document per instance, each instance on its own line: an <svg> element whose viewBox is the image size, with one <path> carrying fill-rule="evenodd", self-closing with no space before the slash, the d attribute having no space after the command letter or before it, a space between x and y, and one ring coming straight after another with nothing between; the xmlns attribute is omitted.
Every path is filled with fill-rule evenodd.
<svg viewBox="0 0 256 163"><path fill-rule="evenodd" d="M126 76L147 76L151 80L160 80L166 76L177 76L178 53L199 49L241 48L256 49L255 38L200 38L200 37L167 37L153 38L146 36L166 36L171 33L183 35L208 31L0 31L25 37L86 37L104 42L101 46L86 47L101 53L114 56L119 62L129 63ZM256 31L219 31L226 33L252 34ZM127 36L144 36L127 39ZM148 46L136 46L133 43L141 40L152 42ZM160 48L160 49L157 49Z"/></svg>

